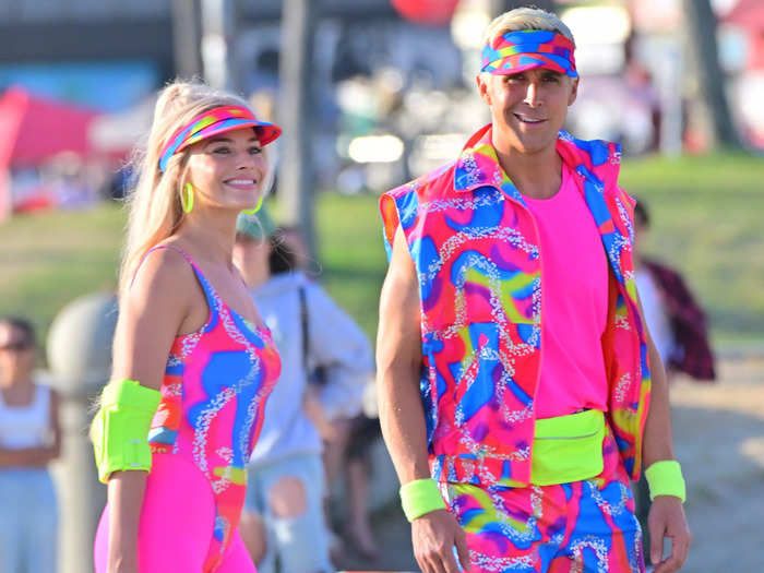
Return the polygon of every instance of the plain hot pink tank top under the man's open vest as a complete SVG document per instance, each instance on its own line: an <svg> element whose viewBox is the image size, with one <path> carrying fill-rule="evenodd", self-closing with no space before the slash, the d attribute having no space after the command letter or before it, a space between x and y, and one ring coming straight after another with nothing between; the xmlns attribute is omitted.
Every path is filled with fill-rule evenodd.
<svg viewBox="0 0 764 573"><path fill-rule="evenodd" d="M608 263L597 225L564 164L553 196L523 199L539 232L545 287L536 418L582 408L607 411L601 336L608 317Z"/></svg>

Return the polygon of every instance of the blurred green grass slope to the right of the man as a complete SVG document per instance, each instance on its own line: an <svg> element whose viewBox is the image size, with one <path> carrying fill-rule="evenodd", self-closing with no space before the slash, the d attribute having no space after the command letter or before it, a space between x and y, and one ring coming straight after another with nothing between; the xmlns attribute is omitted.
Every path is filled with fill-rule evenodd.
<svg viewBox="0 0 764 573"><path fill-rule="evenodd" d="M646 252L682 271L715 337L764 337L764 160L630 162L621 183L649 205Z"/></svg>

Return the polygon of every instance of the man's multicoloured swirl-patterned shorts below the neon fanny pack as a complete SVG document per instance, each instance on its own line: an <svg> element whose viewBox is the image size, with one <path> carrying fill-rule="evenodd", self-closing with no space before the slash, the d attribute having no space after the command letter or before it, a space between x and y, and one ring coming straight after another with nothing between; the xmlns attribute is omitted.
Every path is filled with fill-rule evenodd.
<svg viewBox="0 0 764 573"><path fill-rule="evenodd" d="M471 571L644 573L642 533L629 479L605 439L605 469L557 486L442 484L467 534Z"/></svg>

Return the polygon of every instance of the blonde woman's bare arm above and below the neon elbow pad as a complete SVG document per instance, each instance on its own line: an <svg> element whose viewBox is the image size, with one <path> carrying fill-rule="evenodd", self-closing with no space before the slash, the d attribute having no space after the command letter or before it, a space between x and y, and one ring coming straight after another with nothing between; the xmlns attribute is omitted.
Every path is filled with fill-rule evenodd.
<svg viewBox="0 0 764 573"><path fill-rule="evenodd" d="M195 300L193 271L179 253L151 253L120 301L112 380L135 380L158 390L172 341ZM193 330L193 329L190 329ZM108 571L138 571L138 526L146 471L115 471L108 481Z"/></svg>

